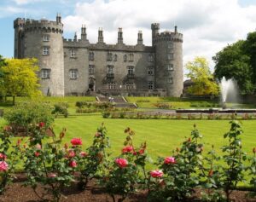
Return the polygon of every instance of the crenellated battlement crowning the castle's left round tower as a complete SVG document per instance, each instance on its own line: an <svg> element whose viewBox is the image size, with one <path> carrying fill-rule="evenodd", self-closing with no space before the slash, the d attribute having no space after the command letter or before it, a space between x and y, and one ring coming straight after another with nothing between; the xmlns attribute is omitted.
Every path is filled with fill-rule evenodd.
<svg viewBox="0 0 256 202"><path fill-rule="evenodd" d="M56 32L62 33L63 32L63 24L58 23L56 21L50 21L46 19L42 20L33 20L33 19L21 19L18 18L14 22L14 27L23 26L25 32L32 32L32 31L47 31L47 32Z"/></svg>

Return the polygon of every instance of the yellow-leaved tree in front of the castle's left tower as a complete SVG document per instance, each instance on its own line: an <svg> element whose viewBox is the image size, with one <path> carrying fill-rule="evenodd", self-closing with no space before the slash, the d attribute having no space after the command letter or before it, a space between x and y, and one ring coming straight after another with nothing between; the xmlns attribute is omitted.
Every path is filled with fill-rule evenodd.
<svg viewBox="0 0 256 202"><path fill-rule="evenodd" d="M7 59L3 70L3 92L13 97L40 95L37 59Z"/></svg>

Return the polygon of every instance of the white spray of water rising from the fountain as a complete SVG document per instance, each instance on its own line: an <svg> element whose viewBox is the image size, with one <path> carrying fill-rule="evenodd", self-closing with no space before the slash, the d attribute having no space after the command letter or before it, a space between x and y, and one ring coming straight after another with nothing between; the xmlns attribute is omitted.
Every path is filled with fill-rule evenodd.
<svg viewBox="0 0 256 202"><path fill-rule="evenodd" d="M222 78L220 82L221 98L222 98L222 107L225 109L226 102L230 101L232 103L238 102L238 87L236 81L231 79Z"/></svg>

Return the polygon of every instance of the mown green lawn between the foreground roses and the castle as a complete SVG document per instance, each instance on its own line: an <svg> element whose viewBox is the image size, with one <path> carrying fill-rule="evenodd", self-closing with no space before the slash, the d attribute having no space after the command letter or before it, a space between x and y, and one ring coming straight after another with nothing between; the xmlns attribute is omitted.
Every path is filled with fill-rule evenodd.
<svg viewBox="0 0 256 202"><path fill-rule="evenodd" d="M147 141L148 153L153 159L170 155L172 150L179 147L184 138L189 136L193 130L193 124L196 124L204 136L202 141L205 142L205 151L209 151L213 144L220 152L220 147L227 143L223 135L230 130L227 120L112 119L102 118L101 115L96 114L56 118L55 130L60 131L66 127L65 141L69 141L72 137L81 137L84 147L88 147L96 128L102 123L107 127L113 155L119 154L125 140L124 130L126 127L131 127L136 132L135 144L139 146L141 142ZM252 153L253 147L256 147L256 121L243 121L242 128L244 130L244 135L241 136L243 148L247 153Z"/></svg>

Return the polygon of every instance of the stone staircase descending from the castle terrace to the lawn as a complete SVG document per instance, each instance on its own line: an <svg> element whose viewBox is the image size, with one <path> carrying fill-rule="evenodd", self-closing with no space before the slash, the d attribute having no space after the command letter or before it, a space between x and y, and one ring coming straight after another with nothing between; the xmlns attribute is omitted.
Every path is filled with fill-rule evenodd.
<svg viewBox="0 0 256 202"><path fill-rule="evenodd" d="M125 100L125 97L123 96L112 96L112 97L99 97L96 96L96 100L100 102L112 102L115 104L115 107L123 107L123 108L135 108L137 105L135 103L130 103Z"/></svg>

